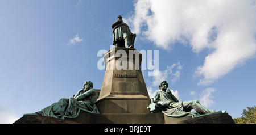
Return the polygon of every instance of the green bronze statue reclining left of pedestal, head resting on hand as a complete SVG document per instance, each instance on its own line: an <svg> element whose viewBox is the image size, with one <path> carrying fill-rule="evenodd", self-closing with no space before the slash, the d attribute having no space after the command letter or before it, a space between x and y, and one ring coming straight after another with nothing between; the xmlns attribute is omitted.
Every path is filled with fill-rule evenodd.
<svg viewBox="0 0 256 135"><path fill-rule="evenodd" d="M92 88L93 83L85 81L84 88L77 91L77 94L73 98L61 98L51 106L29 115L50 116L64 119L65 117L77 117L81 110L89 113L100 113L96 104L94 104L96 101L96 91Z"/></svg>

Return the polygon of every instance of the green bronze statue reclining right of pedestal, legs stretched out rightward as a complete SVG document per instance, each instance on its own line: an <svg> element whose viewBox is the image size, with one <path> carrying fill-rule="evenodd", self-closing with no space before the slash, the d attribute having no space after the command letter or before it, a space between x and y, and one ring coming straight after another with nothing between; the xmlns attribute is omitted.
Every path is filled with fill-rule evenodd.
<svg viewBox="0 0 256 135"><path fill-rule="evenodd" d="M164 115L170 117L183 117L188 115L193 118L209 114L225 113L225 111L213 111L208 109L202 106L198 100L179 102L172 92L167 90L167 87L168 83L166 81L160 83L160 91L154 93L152 103L148 107L151 112L162 112ZM191 112L192 109L196 112Z"/></svg>

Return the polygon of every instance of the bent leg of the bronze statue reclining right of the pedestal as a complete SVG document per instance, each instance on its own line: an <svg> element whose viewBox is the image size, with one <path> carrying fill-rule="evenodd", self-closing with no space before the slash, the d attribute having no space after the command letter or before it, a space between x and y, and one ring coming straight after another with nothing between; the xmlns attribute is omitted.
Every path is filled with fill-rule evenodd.
<svg viewBox="0 0 256 135"><path fill-rule="evenodd" d="M182 102L182 105L185 110L191 111L192 109L195 109L195 111L201 115L214 112L213 110L202 106L198 100L185 101Z"/></svg>

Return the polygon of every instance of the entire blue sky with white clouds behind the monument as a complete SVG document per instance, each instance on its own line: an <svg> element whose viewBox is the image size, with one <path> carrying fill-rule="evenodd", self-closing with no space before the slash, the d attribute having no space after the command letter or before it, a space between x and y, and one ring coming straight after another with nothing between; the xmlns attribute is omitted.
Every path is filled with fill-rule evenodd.
<svg viewBox="0 0 256 135"><path fill-rule="evenodd" d="M255 13L255 1L2 0L0 123L71 97L84 81L100 89L97 53L114 47L118 15L137 50L159 51L159 71L142 70L150 95L166 79L179 100L241 117L256 103Z"/></svg>

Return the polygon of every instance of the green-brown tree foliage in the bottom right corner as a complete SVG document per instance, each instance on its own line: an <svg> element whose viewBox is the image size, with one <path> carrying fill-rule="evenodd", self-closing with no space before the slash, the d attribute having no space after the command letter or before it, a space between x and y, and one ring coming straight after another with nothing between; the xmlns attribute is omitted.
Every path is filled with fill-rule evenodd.
<svg viewBox="0 0 256 135"><path fill-rule="evenodd" d="M233 119L236 124L256 124L256 107L243 109L242 117Z"/></svg>

